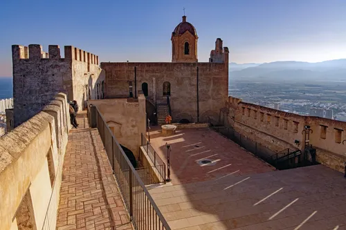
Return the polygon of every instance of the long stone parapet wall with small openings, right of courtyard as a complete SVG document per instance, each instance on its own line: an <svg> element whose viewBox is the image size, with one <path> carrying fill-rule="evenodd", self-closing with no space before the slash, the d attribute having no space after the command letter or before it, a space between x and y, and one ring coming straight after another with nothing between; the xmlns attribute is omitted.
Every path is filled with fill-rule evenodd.
<svg viewBox="0 0 346 230"><path fill-rule="evenodd" d="M228 97L228 115L224 123L267 148L278 152L284 148L304 149L304 126L310 126L309 144L316 148L318 162L344 171L346 161L346 122L321 117L285 113L272 108ZM295 140L300 142L298 146Z"/></svg>

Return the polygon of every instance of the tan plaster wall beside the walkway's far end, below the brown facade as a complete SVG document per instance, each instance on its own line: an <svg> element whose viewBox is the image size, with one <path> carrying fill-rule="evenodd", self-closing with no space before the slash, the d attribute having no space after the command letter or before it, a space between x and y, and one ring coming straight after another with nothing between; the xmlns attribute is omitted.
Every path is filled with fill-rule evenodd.
<svg viewBox="0 0 346 230"><path fill-rule="evenodd" d="M133 99L89 100L106 119L119 144L129 148L136 159L139 157L141 133L146 132L145 97Z"/></svg>

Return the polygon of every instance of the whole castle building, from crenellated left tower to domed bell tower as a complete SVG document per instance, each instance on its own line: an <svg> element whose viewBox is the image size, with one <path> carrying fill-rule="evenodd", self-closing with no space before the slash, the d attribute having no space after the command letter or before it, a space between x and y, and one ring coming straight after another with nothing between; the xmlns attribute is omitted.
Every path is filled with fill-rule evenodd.
<svg viewBox="0 0 346 230"><path fill-rule="evenodd" d="M228 48L218 38L210 61L198 62L197 31L185 16L171 39L172 62L156 63L100 64L98 56L73 46L65 46L64 58L59 46L49 46L48 53L39 45L12 46L15 126L59 92L85 108L88 99L136 98L143 90L152 111L157 105L170 109L174 122L217 119L228 96ZM160 115L162 123L166 114Z"/></svg>

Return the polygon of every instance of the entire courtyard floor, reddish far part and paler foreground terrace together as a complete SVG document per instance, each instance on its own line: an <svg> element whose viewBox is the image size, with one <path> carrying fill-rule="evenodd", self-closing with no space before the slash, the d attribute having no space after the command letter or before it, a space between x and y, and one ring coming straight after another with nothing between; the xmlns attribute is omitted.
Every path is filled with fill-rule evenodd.
<svg viewBox="0 0 346 230"><path fill-rule="evenodd" d="M149 190L172 229L346 229L342 173L322 165L273 171L213 131L152 133L151 141L160 153L172 144L172 183ZM221 160L199 166L197 156Z"/></svg>

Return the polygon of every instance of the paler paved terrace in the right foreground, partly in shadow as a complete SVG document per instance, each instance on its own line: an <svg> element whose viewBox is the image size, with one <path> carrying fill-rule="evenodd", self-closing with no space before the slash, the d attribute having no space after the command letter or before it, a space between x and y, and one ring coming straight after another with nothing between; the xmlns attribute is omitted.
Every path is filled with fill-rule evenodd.
<svg viewBox="0 0 346 230"><path fill-rule="evenodd" d="M346 229L345 178L322 165L149 192L172 230Z"/></svg>

